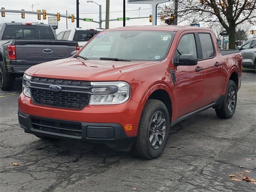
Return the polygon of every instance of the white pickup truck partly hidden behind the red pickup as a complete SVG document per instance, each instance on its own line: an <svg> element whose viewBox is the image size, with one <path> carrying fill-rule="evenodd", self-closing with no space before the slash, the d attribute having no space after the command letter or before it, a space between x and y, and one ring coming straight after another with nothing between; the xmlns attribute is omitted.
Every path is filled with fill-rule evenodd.
<svg viewBox="0 0 256 192"><path fill-rule="evenodd" d="M101 32L102 29L91 28L72 28L62 30L58 35L59 40L77 41L79 46L84 46L94 35Z"/></svg>

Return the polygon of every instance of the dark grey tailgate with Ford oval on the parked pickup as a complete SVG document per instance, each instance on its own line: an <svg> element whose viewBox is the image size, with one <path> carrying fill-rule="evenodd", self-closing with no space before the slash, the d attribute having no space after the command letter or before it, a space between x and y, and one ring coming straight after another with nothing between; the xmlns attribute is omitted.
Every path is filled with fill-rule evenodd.
<svg viewBox="0 0 256 192"><path fill-rule="evenodd" d="M76 50L76 41L16 40L16 65L32 66L43 62L70 57Z"/></svg>

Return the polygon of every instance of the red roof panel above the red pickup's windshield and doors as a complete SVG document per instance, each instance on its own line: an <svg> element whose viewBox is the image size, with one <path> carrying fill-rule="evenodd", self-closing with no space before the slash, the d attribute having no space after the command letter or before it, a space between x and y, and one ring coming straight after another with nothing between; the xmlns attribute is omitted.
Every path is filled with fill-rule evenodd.
<svg viewBox="0 0 256 192"><path fill-rule="evenodd" d="M160 30L160 31L178 31L183 30L210 30L204 27L194 27L194 26L176 26L176 25L147 25L147 26L126 26L112 28L105 31L115 31L115 30Z"/></svg>

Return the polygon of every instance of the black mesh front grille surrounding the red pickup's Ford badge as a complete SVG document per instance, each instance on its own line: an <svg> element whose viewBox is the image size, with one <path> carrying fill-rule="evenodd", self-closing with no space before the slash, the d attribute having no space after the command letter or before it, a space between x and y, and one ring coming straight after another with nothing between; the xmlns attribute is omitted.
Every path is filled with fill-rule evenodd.
<svg viewBox="0 0 256 192"><path fill-rule="evenodd" d="M32 77L30 80L32 102L38 105L81 110L90 98L90 82ZM50 85L59 85L58 92L51 91Z"/></svg>

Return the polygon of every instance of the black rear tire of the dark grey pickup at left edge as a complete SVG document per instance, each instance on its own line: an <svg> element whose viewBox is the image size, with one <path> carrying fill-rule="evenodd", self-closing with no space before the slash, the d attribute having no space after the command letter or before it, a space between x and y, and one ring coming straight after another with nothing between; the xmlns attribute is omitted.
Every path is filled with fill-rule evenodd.
<svg viewBox="0 0 256 192"><path fill-rule="evenodd" d="M0 88L1 90L11 90L14 84L14 76L7 74L4 68L4 62L0 62Z"/></svg>

